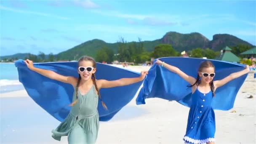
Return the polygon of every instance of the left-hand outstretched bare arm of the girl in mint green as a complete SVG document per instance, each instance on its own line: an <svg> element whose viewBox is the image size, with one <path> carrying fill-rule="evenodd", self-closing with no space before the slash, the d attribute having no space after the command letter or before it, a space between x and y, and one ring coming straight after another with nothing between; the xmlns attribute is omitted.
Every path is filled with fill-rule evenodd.
<svg viewBox="0 0 256 144"><path fill-rule="evenodd" d="M58 80L58 81L61 81L63 83L69 83L73 86L75 86L76 83L77 83L77 78L75 78L75 77L59 75L56 72L53 72L51 70L40 69L40 68L34 67L33 62L30 61L29 59L25 60L24 62L27 65L27 67L29 69L31 69L32 71L37 72L37 73L39 73L39 74L41 74L45 77L48 77L50 79Z"/></svg>

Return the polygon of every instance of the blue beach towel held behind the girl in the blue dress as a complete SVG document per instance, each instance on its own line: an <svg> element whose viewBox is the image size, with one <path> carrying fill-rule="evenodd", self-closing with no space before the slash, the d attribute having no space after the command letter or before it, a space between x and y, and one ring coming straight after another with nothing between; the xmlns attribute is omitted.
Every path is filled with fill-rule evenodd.
<svg viewBox="0 0 256 144"><path fill-rule="evenodd" d="M197 77L197 70L202 61L205 59L186 58L186 57L166 57L160 58L167 64L171 64L181 69L187 75ZM225 61L209 60L215 66L216 76L213 80L220 80L227 77L233 72L238 72L245 68L243 64L237 64ZM213 109L229 110L233 107L235 97L241 85L245 81L248 74L234 79L226 85L217 88L216 96L213 99ZM187 88L189 83L182 79L179 75L161 67L160 65L153 64L149 69L148 75L144 80L143 87L141 88L136 104L145 104L145 99L148 98L161 98L166 100L177 101L184 106L190 107L191 105L191 88Z"/></svg>

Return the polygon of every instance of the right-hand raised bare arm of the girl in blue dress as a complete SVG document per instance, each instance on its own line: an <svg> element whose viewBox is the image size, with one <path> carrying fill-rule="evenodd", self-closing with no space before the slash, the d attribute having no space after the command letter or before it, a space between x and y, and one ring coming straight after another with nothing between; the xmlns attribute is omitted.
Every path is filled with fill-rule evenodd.
<svg viewBox="0 0 256 144"><path fill-rule="evenodd" d="M245 74L247 74L249 71L250 71L250 67L247 65L247 66L245 67L245 69L243 69L243 70L241 70L241 71L239 71L239 72L234 72L234 73L230 74L229 76L223 78L222 80L216 80L216 81L214 81L214 82L213 82L213 83L214 83L214 87L215 87L215 88L221 87L222 85L225 85L226 83L228 83L230 80L233 80L233 79L235 79L235 78L237 78L237 77L240 77L240 76L242 76L242 75L245 75Z"/></svg>

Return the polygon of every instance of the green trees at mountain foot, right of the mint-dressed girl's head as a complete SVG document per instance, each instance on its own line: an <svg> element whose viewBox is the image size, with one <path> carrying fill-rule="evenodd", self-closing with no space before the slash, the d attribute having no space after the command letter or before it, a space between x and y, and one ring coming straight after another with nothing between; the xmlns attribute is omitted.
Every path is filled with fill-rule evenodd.
<svg viewBox="0 0 256 144"><path fill-rule="evenodd" d="M248 45L237 45L231 47L232 52L239 56L240 53L250 49ZM220 51L213 51L210 48L195 48L192 51L187 52L189 57L194 58L203 58L215 59L219 56ZM96 61L102 62L106 61L107 63L112 62L113 60L121 62L135 62L144 63L145 61L150 61L151 58L160 58L160 57L169 57L169 56L181 56L180 52L176 51L172 45L169 44L159 44L155 46L154 51L148 52L145 51L143 43L139 38L139 43L127 43L123 37L120 37L118 41L118 51L115 54L111 48L103 47L96 53Z"/></svg>

